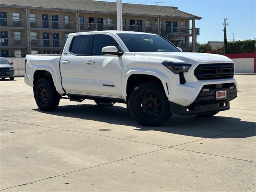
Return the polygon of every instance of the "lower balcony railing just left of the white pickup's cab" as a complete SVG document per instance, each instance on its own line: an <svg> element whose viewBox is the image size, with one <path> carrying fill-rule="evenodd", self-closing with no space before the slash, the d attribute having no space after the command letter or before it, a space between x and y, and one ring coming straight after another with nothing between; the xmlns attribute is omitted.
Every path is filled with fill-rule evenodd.
<svg viewBox="0 0 256 192"><path fill-rule="evenodd" d="M63 48L66 40L62 39L33 39L31 40L32 48Z"/></svg>

